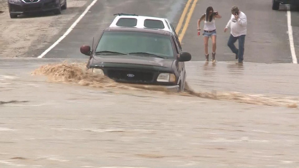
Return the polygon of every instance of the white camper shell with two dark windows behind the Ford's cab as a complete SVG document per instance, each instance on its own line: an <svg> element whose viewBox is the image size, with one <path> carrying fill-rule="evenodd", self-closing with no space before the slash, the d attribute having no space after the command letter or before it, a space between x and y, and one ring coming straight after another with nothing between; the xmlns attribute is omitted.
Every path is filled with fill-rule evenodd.
<svg viewBox="0 0 299 168"><path fill-rule="evenodd" d="M115 16L117 15L117 16ZM179 37L173 25L166 18L152 16L138 16L136 14L116 13L115 18L109 27L135 27L135 28L155 28L169 31L176 37L180 50L182 49Z"/></svg>

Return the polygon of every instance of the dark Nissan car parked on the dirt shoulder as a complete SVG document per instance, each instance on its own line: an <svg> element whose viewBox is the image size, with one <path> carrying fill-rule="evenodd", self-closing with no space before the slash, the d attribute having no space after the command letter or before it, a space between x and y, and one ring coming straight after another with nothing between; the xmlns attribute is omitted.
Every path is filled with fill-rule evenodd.
<svg viewBox="0 0 299 168"><path fill-rule="evenodd" d="M28 13L53 11L61 14L66 9L66 0L7 0L10 18Z"/></svg>

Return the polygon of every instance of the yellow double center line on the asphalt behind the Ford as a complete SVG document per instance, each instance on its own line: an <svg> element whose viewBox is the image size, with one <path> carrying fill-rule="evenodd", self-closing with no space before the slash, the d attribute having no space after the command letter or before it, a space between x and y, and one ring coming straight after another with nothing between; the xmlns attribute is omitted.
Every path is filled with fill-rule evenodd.
<svg viewBox="0 0 299 168"><path fill-rule="evenodd" d="M192 3L193 1L193 3ZM179 41L182 42L182 39L186 33L186 30L188 28L191 16L193 14L193 11L195 9L196 3L198 0L188 0L187 4L183 10L183 13L181 15L181 18L179 20L178 25L176 26L176 33L179 36ZM191 7L190 4L192 3ZM189 9L190 8L190 9ZM185 22L184 22L185 21ZM183 28L182 28L183 27ZM180 31L181 30L181 31Z"/></svg>

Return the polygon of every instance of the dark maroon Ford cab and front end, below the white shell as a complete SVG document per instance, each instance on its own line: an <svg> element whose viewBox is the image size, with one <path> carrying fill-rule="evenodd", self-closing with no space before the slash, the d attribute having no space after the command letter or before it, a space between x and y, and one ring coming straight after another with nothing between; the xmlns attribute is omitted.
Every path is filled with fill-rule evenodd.
<svg viewBox="0 0 299 168"><path fill-rule="evenodd" d="M80 52L89 56L89 72L120 83L159 85L175 91L184 91L184 62L191 59L170 31L130 26L106 28L94 49L83 45Z"/></svg>

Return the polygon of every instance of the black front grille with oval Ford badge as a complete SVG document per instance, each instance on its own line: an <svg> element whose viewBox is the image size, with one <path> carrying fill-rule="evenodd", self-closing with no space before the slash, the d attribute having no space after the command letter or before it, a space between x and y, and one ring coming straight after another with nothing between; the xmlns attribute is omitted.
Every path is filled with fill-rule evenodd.
<svg viewBox="0 0 299 168"><path fill-rule="evenodd" d="M109 69L107 70L107 76L119 82L152 83L154 73L148 71Z"/></svg>

